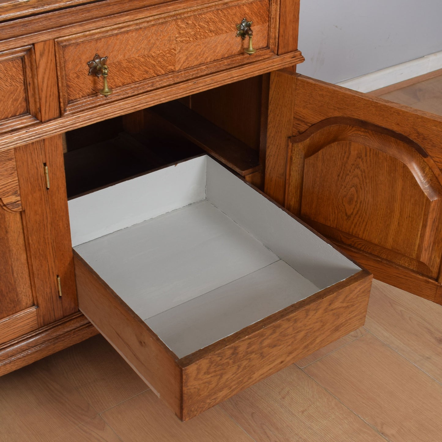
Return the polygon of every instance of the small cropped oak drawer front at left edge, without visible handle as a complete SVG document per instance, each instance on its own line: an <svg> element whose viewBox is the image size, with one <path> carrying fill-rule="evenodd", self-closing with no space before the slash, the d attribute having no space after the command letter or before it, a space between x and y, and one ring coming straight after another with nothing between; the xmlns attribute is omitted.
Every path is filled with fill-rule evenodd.
<svg viewBox="0 0 442 442"><path fill-rule="evenodd" d="M0 133L38 122L37 69L33 46L0 53Z"/></svg>

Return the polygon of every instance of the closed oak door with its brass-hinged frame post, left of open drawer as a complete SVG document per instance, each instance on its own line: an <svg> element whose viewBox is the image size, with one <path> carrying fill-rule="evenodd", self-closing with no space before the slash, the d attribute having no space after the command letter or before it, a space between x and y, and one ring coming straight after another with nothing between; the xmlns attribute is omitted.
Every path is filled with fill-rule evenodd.
<svg viewBox="0 0 442 442"><path fill-rule="evenodd" d="M0 152L0 344L76 311L62 161L60 137Z"/></svg>

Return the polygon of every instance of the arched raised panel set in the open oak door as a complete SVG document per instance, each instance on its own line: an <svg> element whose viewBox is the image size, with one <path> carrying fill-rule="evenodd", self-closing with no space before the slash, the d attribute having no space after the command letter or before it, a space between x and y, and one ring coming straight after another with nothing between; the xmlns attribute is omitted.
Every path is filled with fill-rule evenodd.
<svg viewBox="0 0 442 442"><path fill-rule="evenodd" d="M349 118L324 120L291 143L290 211L341 244L437 278L441 174L419 145Z"/></svg>

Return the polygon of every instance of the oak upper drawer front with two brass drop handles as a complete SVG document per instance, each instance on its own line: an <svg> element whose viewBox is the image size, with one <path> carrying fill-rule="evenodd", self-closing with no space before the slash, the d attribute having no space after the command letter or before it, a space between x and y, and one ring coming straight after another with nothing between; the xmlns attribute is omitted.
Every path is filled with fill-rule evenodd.
<svg viewBox="0 0 442 442"><path fill-rule="evenodd" d="M276 21L270 14L274 3L229 1L220 9L186 9L59 38L61 109L67 113L103 103L102 77L88 75L87 62L96 53L108 57L113 92L106 102L271 57L267 48L269 27ZM244 17L253 21L257 52L251 56L244 53L248 39L236 38L236 24ZM276 35L275 23L272 32Z"/></svg>

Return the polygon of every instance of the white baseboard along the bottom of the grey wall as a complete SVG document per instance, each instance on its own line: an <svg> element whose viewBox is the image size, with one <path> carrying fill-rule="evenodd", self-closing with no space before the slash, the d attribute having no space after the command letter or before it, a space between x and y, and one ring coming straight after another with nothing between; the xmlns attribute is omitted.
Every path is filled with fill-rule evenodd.
<svg viewBox="0 0 442 442"><path fill-rule="evenodd" d="M442 69L442 51L336 84L359 92L371 92L438 69Z"/></svg>

